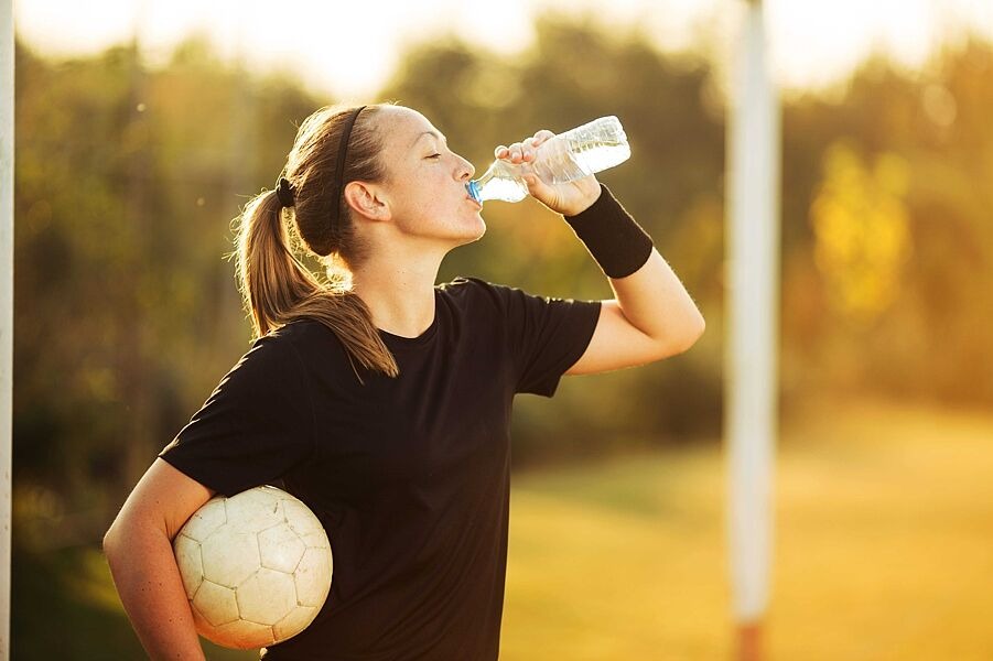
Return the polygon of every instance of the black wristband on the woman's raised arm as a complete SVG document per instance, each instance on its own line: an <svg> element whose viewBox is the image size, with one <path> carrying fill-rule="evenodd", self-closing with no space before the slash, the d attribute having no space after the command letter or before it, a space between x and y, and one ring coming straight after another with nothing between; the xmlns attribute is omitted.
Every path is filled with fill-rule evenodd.
<svg viewBox="0 0 993 661"><path fill-rule="evenodd" d="M575 216L564 216L586 250L608 278L626 278L645 266L654 245L641 226L620 206L611 189Z"/></svg>

